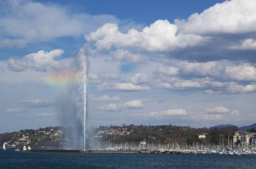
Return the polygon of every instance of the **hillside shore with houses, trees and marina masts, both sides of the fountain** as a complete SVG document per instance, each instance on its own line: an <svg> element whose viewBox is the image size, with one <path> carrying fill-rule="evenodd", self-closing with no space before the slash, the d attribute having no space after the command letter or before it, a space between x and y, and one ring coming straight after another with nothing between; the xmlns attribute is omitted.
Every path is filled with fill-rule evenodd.
<svg viewBox="0 0 256 169"><path fill-rule="evenodd" d="M176 125L100 126L90 129L94 150L241 150L255 151L256 128L241 131L234 125L193 128ZM24 129L1 133L6 148L65 148L69 140L64 127Z"/></svg>

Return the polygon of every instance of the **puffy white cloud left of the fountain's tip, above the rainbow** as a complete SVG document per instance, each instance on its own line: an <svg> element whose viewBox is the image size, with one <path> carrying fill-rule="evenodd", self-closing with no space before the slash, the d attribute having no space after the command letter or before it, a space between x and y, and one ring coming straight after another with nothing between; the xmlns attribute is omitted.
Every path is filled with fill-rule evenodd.
<svg viewBox="0 0 256 169"><path fill-rule="evenodd" d="M57 62L57 58L64 53L63 50L51 50L46 52L39 50L36 53L28 54L22 60L9 59L9 69L15 72L24 71L27 69L34 69L40 71L47 71L51 68L59 68L61 64Z"/></svg>

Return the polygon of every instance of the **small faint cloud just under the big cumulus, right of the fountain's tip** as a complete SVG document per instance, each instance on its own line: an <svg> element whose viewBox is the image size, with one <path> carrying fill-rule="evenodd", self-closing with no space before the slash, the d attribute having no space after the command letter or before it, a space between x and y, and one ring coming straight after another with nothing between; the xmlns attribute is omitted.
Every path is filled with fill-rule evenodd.
<svg viewBox="0 0 256 169"><path fill-rule="evenodd" d="M110 52L110 54L113 56L113 60L119 60L121 62L139 63L146 61L146 56L132 54L128 50L116 50L115 52Z"/></svg>

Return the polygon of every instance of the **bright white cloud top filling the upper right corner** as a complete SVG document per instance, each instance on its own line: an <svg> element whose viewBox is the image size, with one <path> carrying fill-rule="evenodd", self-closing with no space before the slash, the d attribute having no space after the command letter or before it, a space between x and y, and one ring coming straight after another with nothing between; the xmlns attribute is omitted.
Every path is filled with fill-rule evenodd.
<svg viewBox="0 0 256 169"><path fill-rule="evenodd" d="M236 34L255 32L256 1L232 0L217 3L187 21L176 19L179 32L185 34Z"/></svg>

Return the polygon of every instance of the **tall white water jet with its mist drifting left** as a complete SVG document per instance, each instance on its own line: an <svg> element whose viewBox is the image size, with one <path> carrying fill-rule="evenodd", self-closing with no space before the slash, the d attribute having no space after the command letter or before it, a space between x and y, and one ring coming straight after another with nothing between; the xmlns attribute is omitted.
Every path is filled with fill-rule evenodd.
<svg viewBox="0 0 256 169"><path fill-rule="evenodd" d="M81 48L71 64L69 82L59 97L61 123L67 129L65 147L86 150L88 62Z"/></svg>

